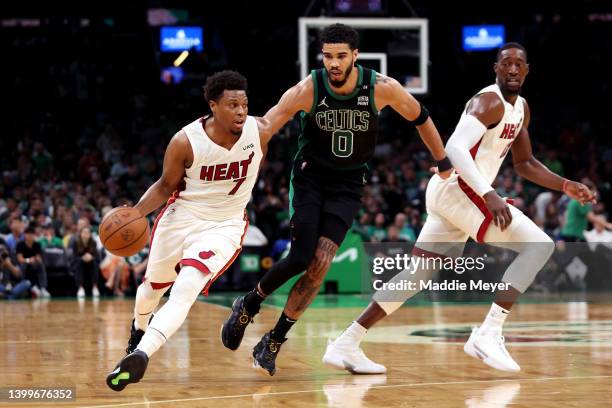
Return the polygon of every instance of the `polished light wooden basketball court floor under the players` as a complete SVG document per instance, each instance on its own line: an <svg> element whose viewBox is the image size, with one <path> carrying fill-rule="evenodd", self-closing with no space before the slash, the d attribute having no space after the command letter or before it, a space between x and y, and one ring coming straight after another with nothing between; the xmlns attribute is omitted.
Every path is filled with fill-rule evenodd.
<svg viewBox="0 0 612 408"><path fill-rule="evenodd" d="M229 309L198 302L185 325L151 358L144 379L121 393L108 389L105 377L124 354L133 299L2 302L0 388L76 387L76 400L4 400L0 406L612 405L612 301L605 297L516 306L505 335L522 367L518 374L495 371L463 353L471 325L480 322L488 305L404 307L368 333L363 344L369 357L387 365L383 376L354 376L320 361L327 338L365 304L351 299L320 299L305 314L283 346L274 377L254 371L250 353L275 323L278 308L264 308L242 347L231 352L219 338Z"/></svg>

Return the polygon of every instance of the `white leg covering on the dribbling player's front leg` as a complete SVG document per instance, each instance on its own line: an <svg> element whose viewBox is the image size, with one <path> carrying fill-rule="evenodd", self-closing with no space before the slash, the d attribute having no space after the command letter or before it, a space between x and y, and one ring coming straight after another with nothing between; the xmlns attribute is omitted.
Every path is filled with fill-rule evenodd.
<svg viewBox="0 0 612 408"><path fill-rule="evenodd" d="M204 275L192 266L183 267L174 282L170 298L155 313L149 328L136 348L144 351L149 357L159 350L181 327L191 306L209 279L210 275Z"/></svg>

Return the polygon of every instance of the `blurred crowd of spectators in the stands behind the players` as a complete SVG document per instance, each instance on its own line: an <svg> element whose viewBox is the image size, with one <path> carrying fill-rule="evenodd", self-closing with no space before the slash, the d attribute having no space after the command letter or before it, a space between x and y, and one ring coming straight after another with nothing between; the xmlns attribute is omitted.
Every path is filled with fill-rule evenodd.
<svg viewBox="0 0 612 408"><path fill-rule="evenodd" d="M49 123L41 123L47 126ZM275 243L287 239L288 164L294 131L289 125L272 145L248 208L253 225L270 243L269 252ZM117 296L134 292L146 268L148 249L130 258L113 256L104 251L97 228L107 211L135 203L158 177L164 142L141 145L130 154L125 139L110 124L97 134L87 131L76 141L70 152L75 161L69 164L66 157L50 152L44 137L26 133L12 154L3 157L2 296L48 297L51 292L98 297L101 292ZM612 150L590 153L591 160L612 167ZM562 150L550 146L537 155L558 174L579 176L595 190L609 189L610 178L592 177L588 168L568 169L574 161ZM398 138L380 143L353 231L365 242L414 242L426 218L424 197L430 167L430 157L414 135L406 141ZM501 196L513 198L514 205L555 240L612 241L604 202L581 206L559 192L518 178L510 164L494 186ZM55 278L58 282L50 282Z"/></svg>

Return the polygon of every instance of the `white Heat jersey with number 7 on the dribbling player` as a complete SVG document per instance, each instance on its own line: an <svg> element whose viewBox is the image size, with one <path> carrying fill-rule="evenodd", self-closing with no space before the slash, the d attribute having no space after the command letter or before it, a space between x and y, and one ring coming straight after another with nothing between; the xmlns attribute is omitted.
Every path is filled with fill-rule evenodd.
<svg viewBox="0 0 612 408"><path fill-rule="evenodd" d="M263 157L257 120L247 116L230 150L208 137L205 120L200 118L183 128L193 149L193 164L185 170L184 189L176 203L206 220L243 219Z"/></svg>

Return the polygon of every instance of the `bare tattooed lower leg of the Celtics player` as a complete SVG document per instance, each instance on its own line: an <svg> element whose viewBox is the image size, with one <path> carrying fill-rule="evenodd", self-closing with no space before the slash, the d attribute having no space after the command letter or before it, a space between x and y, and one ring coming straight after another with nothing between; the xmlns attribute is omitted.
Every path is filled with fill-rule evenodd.
<svg viewBox="0 0 612 408"><path fill-rule="evenodd" d="M312 262L289 293L285 306L285 314L289 318L297 320L317 296L337 250L338 245L332 240L319 238Z"/></svg>

